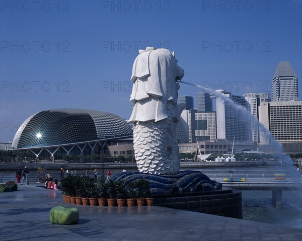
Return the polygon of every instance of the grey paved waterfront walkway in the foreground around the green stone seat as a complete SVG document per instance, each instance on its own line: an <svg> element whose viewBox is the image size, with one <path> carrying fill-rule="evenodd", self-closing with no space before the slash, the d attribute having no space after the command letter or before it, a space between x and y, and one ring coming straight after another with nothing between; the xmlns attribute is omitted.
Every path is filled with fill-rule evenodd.
<svg viewBox="0 0 302 241"><path fill-rule="evenodd" d="M65 204L60 191L18 185L0 193L0 240L302 240L302 229L163 207ZM58 225L49 210L77 207L79 223Z"/></svg>

